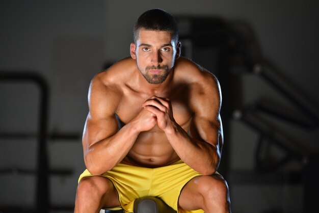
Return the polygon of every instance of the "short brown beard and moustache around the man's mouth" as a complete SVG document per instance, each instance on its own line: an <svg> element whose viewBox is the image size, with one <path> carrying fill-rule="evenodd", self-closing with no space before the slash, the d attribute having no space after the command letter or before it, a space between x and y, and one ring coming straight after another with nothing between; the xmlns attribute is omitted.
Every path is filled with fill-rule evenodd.
<svg viewBox="0 0 319 213"><path fill-rule="evenodd" d="M162 70L162 73L160 74L151 74L149 73L149 70L153 70L153 69L157 69L157 70ZM164 66L147 66L145 68L145 72L143 73L141 70L140 72L142 73L143 77L146 79L146 81L149 84L161 84L163 83L168 74L170 73L170 69L168 68L167 65Z"/></svg>

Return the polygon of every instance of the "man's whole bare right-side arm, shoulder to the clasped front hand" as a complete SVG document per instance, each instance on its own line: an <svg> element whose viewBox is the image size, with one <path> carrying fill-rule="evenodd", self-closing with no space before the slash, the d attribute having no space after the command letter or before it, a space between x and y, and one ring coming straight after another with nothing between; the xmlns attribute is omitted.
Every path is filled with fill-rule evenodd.
<svg viewBox="0 0 319 213"><path fill-rule="evenodd" d="M223 130L219 83L210 73L204 75L205 80L191 89L191 107L194 110L190 124L192 137L175 122L168 99L154 96L143 107L156 115L158 127L164 130L178 156L194 170L209 175L215 173L219 166Z"/></svg>

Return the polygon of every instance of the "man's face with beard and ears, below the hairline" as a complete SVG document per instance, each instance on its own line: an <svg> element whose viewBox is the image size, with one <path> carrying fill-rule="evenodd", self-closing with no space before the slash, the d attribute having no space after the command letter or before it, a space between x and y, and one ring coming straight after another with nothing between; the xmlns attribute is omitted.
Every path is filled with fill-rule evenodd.
<svg viewBox="0 0 319 213"><path fill-rule="evenodd" d="M176 43L167 31L139 30L136 44L130 46L130 54L150 84L161 84L171 72L180 43Z"/></svg>

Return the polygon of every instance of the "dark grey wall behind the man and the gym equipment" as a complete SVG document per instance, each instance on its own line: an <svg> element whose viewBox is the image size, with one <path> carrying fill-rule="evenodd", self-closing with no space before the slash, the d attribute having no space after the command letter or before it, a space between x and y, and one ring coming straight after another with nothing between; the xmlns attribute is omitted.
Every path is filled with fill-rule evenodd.
<svg viewBox="0 0 319 213"><path fill-rule="evenodd" d="M272 73L283 75L285 82L293 85L290 88L307 97L306 105L317 114L319 30L316 1L1 1L0 70L33 71L43 76L50 88L49 133L78 136L48 140L50 167L72 171L69 175L50 176L52 205L73 205L77 178L85 168L81 135L88 111L90 80L106 63L129 56L132 26L138 16L150 8L163 8L177 18L215 17L225 21L246 39L245 47L251 58L272 64ZM207 40L207 44L209 42ZM186 44L185 48L188 48ZM214 63L209 61L209 54L212 54L211 60L216 60L214 51L209 49L198 49L192 58L210 68ZM220 70L211 71L221 74ZM268 98L284 110L293 108L294 114L301 113L262 77L249 71L236 75L240 82L240 104L236 107L243 108L259 98ZM0 98L1 133L36 132L39 91L34 84L1 81ZM303 147L317 152L317 127L309 130L272 117L267 119L274 123L272 132L280 128ZM227 162L233 212L270 209L271 212L275 212L274 209L301 212L305 203L302 182L238 181L245 179L238 176L240 172L255 170L259 134L231 116L227 123L227 149L223 153L227 158L223 161ZM0 138L0 168L34 170L36 148L34 138ZM270 149L273 149L272 154L282 155L282 151ZM29 173L12 171L0 174L0 206L34 206L36 178ZM291 171L303 171L300 161L276 170ZM276 172L271 174L276 176Z"/></svg>

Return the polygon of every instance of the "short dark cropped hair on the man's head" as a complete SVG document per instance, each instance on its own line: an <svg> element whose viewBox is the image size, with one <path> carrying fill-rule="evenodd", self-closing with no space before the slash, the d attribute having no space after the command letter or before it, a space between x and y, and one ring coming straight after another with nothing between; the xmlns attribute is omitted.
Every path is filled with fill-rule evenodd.
<svg viewBox="0 0 319 213"><path fill-rule="evenodd" d="M139 36L139 30L168 31L172 38L178 41L177 22L171 14L162 9L151 9L144 12L136 21L133 29L133 39L136 43Z"/></svg>

